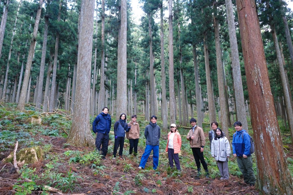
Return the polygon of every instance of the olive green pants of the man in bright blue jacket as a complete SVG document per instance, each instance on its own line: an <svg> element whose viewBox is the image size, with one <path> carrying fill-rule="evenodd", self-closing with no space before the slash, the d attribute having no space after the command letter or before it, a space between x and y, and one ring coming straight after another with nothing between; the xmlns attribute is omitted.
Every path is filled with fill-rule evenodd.
<svg viewBox="0 0 293 195"><path fill-rule="evenodd" d="M243 180L246 184L254 185L256 182L255 175L252 169L252 158L248 156L243 158L242 156L237 156L238 167L243 175Z"/></svg>

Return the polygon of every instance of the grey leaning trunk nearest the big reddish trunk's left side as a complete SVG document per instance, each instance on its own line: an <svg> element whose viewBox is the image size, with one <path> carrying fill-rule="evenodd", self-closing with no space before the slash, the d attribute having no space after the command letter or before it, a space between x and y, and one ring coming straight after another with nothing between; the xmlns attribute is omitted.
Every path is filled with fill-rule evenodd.
<svg viewBox="0 0 293 195"><path fill-rule="evenodd" d="M234 22L234 14L233 14L233 6L232 6L231 0L225 0L225 1L226 1L226 13L227 13L229 40L230 40L230 48L231 48L232 75L234 78L233 79L234 88L237 89L236 91L234 90L237 118L239 121L241 121L243 129L248 129L245 103L244 103L244 95L243 95L242 78L241 78L241 71L240 71L236 30L235 30L235 22Z"/></svg>

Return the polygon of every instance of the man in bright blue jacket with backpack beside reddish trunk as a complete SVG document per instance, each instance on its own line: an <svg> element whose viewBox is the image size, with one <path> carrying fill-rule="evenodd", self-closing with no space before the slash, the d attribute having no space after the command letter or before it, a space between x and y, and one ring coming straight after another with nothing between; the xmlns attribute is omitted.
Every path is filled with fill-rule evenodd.
<svg viewBox="0 0 293 195"><path fill-rule="evenodd" d="M256 179L252 170L250 136L246 130L242 129L241 122L236 121L234 127L236 132L233 134L232 141L233 155L237 157L238 167L242 172L244 182L254 186Z"/></svg>

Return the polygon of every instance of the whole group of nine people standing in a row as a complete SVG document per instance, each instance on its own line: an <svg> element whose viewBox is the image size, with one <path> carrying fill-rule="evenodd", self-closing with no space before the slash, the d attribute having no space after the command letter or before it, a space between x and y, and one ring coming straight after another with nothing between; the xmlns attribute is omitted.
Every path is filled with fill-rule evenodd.
<svg viewBox="0 0 293 195"><path fill-rule="evenodd" d="M127 124L126 114L121 114L119 121L114 124L114 150L113 159L116 158L117 148L119 149L119 158L122 159L122 152L124 146L125 133L126 138L129 139L130 148L129 154L137 155L137 145L139 141L139 124L136 121L137 116L133 115L131 121ZM153 169L156 170L159 164L159 139L161 137L161 129L157 125L157 117L151 116L149 124L144 131L146 138L146 148L142 154L138 169L144 169L147 159L153 150ZM203 151L205 147L205 134L201 127L196 125L196 119L191 118L190 124L192 128L188 132L186 139L190 142L190 148L197 166L197 175L199 178L201 174L201 165L205 170L206 178L209 178L209 170L205 162ZM222 129L218 128L217 122L211 123L212 130L209 131L209 141L211 155L215 158L221 178L229 179L228 159L231 154L231 148L228 138L225 137ZM244 182L253 186L256 182L255 175L252 169L252 158L250 152L250 136L246 130L242 129L241 122L234 123L236 132L233 134L232 148L233 155L237 157L237 163L240 171L243 174ZM108 108L104 107L103 112L98 114L93 122L93 132L96 133L96 149L101 151L102 158L108 152L109 132L111 128L111 116L108 114ZM180 171L179 153L181 149L181 136L177 130L176 124L170 125L170 132L168 133L168 141L166 145L166 152L168 152L168 160L171 168L176 165L177 170ZM102 148L101 148L102 146ZM133 152L134 149L134 152Z"/></svg>

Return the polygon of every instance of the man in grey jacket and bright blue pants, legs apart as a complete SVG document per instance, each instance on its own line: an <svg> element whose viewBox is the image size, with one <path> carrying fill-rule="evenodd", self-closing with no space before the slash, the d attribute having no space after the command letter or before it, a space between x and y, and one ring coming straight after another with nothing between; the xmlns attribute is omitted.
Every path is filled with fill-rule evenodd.
<svg viewBox="0 0 293 195"><path fill-rule="evenodd" d="M159 125L157 125L156 116L151 116L151 122L149 122L149 125L147 125L144 130L144 137L147 139L147 146L144 149L138 169L144 169L147 159L149 158L149 154L151 153L151 150L153 150L153 169L156 170L159 165L159 139L161 137L161 129Z"/></svg>

